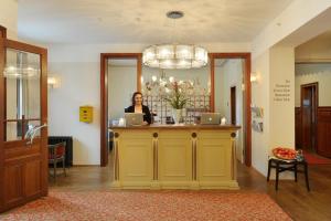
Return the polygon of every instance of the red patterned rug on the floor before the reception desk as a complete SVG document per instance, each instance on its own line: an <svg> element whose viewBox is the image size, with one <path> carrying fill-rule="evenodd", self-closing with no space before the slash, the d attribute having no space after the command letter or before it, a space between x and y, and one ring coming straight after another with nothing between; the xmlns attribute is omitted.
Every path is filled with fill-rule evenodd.
<svg viewBox="0 0 331 221"><path fill-rule="evenodd" d="M291 220L265 193L220 191L50 192L0 220Z"/></svg>

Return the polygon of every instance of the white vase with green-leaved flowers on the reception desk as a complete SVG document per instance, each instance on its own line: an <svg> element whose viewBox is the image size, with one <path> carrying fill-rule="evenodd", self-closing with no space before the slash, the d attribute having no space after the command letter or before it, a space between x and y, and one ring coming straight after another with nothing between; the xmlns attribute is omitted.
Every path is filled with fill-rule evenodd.
<svg viewBox="0 0 331 221"><path fill-rule="evenodd" d="M170 84L171 90L166 101L170 104L172 109L172 118L174 124L183 123L183 113L188 104L189 98L183 88L181 88L181 83L173 82Z"/></svg>

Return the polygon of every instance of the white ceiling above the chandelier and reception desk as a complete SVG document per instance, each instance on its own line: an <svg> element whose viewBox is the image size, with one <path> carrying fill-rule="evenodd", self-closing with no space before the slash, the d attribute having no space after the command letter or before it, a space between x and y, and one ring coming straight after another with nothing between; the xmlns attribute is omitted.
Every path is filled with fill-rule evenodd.
<svg viewBox="0 0 331 221"><path fill-rule="evenodd" d="M250 42L292 0L18 0L19 36L41 43ZM184 18L166 13L181 10Z"/></svg>

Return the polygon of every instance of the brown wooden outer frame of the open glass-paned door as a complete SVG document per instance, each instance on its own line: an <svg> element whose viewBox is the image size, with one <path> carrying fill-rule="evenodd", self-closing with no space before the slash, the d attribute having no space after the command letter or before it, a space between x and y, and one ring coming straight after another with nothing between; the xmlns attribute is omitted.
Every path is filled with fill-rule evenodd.
<svg viewBox="0 0 331 221"><path fill-rule="evenodd" d="M30 44L25 44L18 41L8 40L6 38L0 38L0 70L4 70L6 65L6 54L4 50L7 48L14 49L19 51L35 53L40 55L40 65L41 65L41 77L40 77L40 108L41 108L41 115L40 115L40 123L41 125L47 124L47 50ZM13 140L13 141L4 141L4 120L6 120L6 78L3 76L3 72L0 72L0 212L6 211L8 209L11 209L13 207L18 207L21 204L24 204L33 199L38 199L40 197L45 197L49 193L49 156L47 156L47 127L44 127L41 129L41 138L35 138L35 140L40 141L40 145L42 147L45 147L42 149L42 166L41 166L41 191L40 193L24 197L22 200L18 200L17 202L12 202L9 204L6 204L6 189L4 189L4 154L7 148L13 148L18 145L26 144L25 139L22 140ZM24 190L24 187L22 187ZM22 190L22 191L23 191Z"/></svg>

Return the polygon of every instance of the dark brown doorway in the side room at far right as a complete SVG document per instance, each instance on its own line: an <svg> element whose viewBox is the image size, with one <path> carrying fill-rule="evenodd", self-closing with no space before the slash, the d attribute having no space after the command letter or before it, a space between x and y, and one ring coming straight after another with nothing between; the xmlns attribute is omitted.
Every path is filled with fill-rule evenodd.
<svg viewBox="0 0 331 221"><path fill-rule="evenodd" d="M301 147L317 152L318 83L301 85Z"/></svg>

